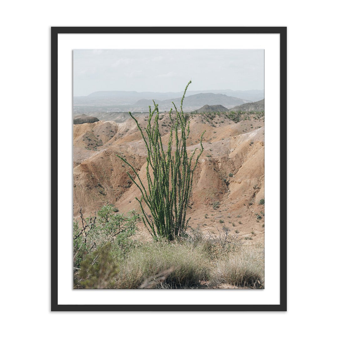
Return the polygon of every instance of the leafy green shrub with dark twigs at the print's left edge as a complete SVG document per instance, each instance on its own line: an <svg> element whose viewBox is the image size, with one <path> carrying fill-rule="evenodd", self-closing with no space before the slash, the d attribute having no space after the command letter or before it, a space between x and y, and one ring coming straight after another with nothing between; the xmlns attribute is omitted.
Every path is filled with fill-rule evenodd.
<svg viewBox="0 0 338 338"><path fill-rule="evenodd" d="M139 216L131 211L127 216L116 214L113 204L103 206L95 216L84 218L80 209L80 221L73 221L73 263L78 270L83 258L97 248L111 242L123 251L132 245L131 236L136 232Z"/></svg>

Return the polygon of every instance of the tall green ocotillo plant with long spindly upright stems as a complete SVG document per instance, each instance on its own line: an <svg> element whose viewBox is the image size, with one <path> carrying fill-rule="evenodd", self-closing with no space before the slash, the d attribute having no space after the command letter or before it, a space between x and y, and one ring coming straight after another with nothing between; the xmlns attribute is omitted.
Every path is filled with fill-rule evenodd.
<svg viewBox="0 0 338 338"><path fill-rule="evenodd" d="M143 213L141 216L143 223L154 237L164 237L168 240L173 240L176 237L182 236L185 232L188 222L186 220L189 198L193 183L193 174L200 155L203 152L202 137L200 137L200 151L193 161L194 155L198 148L195 148L190 157L187 153L187 138L189 137L190 121L186 121L182 110L183 100L187 92L187 84L182 100L180 111L174 105L176 115L172 117L172 108L169 111L171 120L171 128L169 133L168 149L164 151L162 139L159 131L159 108L154 101L154 109L149 106L149 119L145 129L147 138L140 127L138 121L129 112L129 115L136 122L138 129L141 132L143 141L147 148L147 166L146 177L148 189L140 179L139 174L134 167L121 156L117 155L125 162L136 174L135 179L127 172L128 176L136 184L141 191L141 198L137 198ZM154 117L153 125L151 120ZM180 137L178 136L181 131ZM175 139L175 150L173 151L173 138ZM151 176L150 168L153 174ZM150 210L152 218L148 216L143 208L142 201L145 202Z"/></svg>

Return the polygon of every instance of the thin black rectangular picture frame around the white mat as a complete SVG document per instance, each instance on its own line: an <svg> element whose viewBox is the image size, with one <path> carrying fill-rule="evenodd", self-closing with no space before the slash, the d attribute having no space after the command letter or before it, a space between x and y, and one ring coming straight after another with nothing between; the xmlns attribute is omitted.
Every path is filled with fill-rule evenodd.
<svg viewBox="0 0 338 338"><path fill-rule="evenodd" d="M280 37L280 304L104 305L58 304L58 35L279 34ZM51 27L51 311L287 311L286 135L287 27ZM100 292L100 291L98 291ZM215 290L215 292L222 292Z"/></svg>

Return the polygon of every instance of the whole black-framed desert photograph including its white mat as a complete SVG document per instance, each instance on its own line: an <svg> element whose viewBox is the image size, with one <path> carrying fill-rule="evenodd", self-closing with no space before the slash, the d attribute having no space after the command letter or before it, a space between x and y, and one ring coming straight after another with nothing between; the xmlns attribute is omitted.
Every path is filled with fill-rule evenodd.
<svg viewBox="0 0 338 338"><path fill-rule="evenodd" d="M287 310L286 34L51 28L52 311Z"/></svg>

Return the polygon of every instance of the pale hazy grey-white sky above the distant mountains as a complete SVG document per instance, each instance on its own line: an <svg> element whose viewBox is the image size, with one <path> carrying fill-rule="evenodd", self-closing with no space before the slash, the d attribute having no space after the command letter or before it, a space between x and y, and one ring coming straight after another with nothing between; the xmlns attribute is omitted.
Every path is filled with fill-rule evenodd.
<svg viewBox="0 0 338 338"><path fill-rule="evenodd" d="M75 49L74 96L264 89L263 49Z"/></svg>

